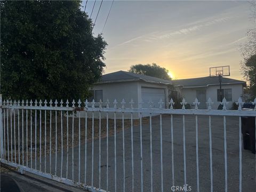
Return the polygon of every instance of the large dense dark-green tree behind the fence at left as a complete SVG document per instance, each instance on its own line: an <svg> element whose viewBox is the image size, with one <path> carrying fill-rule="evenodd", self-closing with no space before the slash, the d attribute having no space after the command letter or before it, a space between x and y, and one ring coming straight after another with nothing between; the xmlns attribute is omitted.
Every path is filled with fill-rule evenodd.
<svg viewBox="0 0 256 192"><path fill-rule="evenodd" d="M1 91L12 99L84 99L107 43L82 1L1 1Z"/></svg>

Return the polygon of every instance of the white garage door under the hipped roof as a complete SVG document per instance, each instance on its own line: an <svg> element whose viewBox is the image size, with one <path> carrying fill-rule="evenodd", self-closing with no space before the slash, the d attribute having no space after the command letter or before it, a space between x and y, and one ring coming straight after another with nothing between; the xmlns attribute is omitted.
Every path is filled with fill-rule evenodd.
<svg viewBox="0 0 256 192"><path fill-rule="evenodd" d="M149 108L149 101L153 103L151 106L153 108L159 108L159 100L162 99L164 102L162 107L165 108L165 89L157 89L151 87L141 87L141 99L142 99L142 107Z"/></svg>

